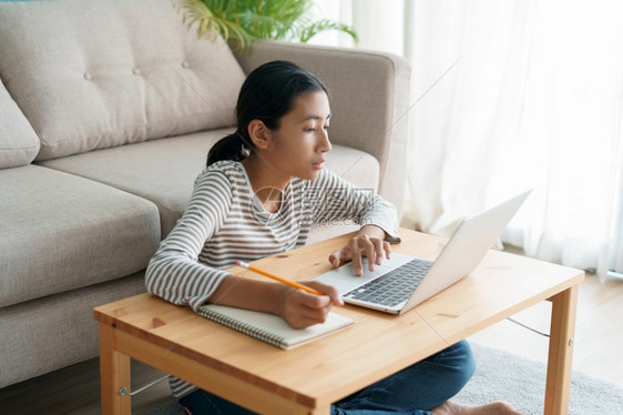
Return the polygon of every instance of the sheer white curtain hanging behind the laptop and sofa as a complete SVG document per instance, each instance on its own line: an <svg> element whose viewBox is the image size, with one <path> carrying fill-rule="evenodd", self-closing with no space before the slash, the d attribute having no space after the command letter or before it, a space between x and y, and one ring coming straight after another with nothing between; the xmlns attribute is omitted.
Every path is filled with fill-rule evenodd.
<svg viewBox="0 0 623 415"><path fill-rule="evenodd" d="M404 226L448 235L532 188L504 242L602 275L623 271L622 1L317 6L355 26L358 48L411 61ZM333 36L315 41L350 45Z"/></svg>

